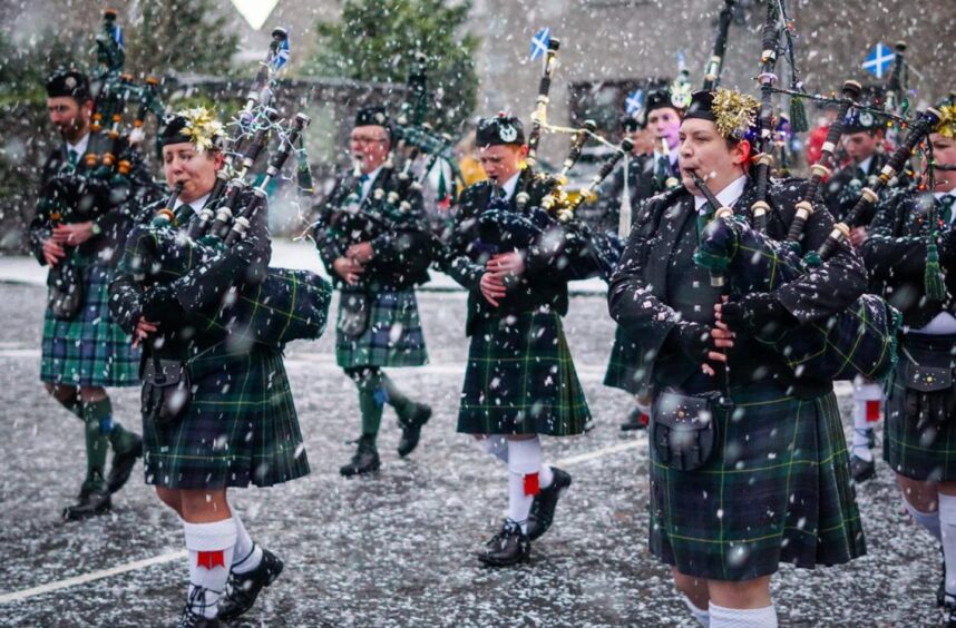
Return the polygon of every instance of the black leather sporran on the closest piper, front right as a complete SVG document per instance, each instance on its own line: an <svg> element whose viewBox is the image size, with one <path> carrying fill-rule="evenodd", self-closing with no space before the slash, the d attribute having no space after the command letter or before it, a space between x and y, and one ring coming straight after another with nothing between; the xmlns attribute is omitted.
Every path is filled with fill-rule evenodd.
<svg viewBox="0 0 956 628"><path fill-rule="evenodd" d="M651 410L651 447L657 460L679 471L703 467L713 454L716 425L711 398L661 393Z"/></svg>

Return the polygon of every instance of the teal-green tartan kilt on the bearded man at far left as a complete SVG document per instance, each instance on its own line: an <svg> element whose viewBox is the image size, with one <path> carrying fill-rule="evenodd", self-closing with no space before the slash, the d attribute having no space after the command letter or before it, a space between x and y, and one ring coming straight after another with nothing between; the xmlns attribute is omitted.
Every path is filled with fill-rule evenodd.
<svg viewBox="0 0 956 628"><path fill-rule="evenodd" d="M86 294L76 317L60 321L49 307L43 315L40 380L68 386L135 386L139 350L109 314L113 271L92 265L84 277Z"/></svg>

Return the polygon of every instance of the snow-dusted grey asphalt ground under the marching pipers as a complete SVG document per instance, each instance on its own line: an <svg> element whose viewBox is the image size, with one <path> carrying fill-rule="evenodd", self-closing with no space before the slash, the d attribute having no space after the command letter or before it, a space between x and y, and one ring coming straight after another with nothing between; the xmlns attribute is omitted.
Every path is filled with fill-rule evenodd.
<svg viewBox="0 0 956 628"><path fill-rule="evenodd" d="M281 264L318 268L310 252L276 246ZM186 583L182 527L142 483L139 467L110 516L59 518L79 489L84 441L79 422L37 379L45 292L31 264L0 259L0 278L26 284L0 285L0 625L172 625ZM646 436L618 433L630 401L601 383L614 332L604 300L573 298L566 320L597 426L545 440L546 458L566 468L574 485L531 562L507 570L481 568L472 556L496 531L507 493L505 470L455 433L465 294L423 293L419 301L431 364L392 374L436 413L404 461L387 413L375 477L338 474L359 414L354 386L334 365L333 334L287 347L313 471L287 485L234 491L253 537L286 565L246 625L695 626L669 570L647 552ZM838 391L846 413L849 389ZM114 404L116 419L137 428L138 392L114 391ZM858 495L869 556L816 571L783 567L773 585L781 625L936 625L939 555L903 512L885 464ZM130 565L148 559L156 560ZM104 577L110 569L128 570ZM8 597L70 578L80 581Z"/></svg>

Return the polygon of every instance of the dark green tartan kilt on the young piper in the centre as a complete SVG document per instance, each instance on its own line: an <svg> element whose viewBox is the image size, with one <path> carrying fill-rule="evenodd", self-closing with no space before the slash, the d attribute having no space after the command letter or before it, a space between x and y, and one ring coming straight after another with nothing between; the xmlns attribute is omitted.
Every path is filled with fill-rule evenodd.
<svg viewBox="0 0 956 628"><path fill-rule="evenodd" d="M459 432L568 436L589 423L557 313L525 312L478 323L468 349Z"/></svg>

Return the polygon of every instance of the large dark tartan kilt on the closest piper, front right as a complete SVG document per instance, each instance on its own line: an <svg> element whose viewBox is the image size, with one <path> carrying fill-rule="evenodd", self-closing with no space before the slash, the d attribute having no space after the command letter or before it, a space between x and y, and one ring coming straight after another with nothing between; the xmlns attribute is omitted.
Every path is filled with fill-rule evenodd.
<svg viewBox="0 0 956 628"><path fill-rule="evenodd" d="M714 409L703 467L677 471L651 448L654 556L689 576L743 581L780 562L812 569L865 555L833 393L800 400L765 383L731 389L731 399L732 409Z"/></svg>

